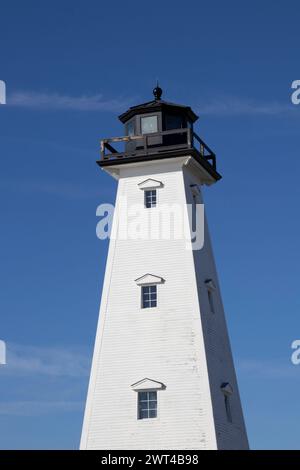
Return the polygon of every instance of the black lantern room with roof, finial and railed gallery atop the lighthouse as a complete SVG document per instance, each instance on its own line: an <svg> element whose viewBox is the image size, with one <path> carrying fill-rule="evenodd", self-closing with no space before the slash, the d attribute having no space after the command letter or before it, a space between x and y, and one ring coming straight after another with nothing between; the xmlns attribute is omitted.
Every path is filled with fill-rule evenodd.
<svg viewBox="0 0 300 470"><path fill-rule="evenodd" d="M119 116L124 125L122 137L101 141L101 167L191 155L209 173L212 181L221 175L216 169L216 155L194 132L198 116L190 106L162 99L157 84L153 100L130 107Z"/></svg>

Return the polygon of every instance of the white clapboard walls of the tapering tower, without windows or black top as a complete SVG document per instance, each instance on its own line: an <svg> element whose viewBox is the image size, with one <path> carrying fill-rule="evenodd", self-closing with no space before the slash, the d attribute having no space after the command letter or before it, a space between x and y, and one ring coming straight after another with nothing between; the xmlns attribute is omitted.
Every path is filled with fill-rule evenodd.
<svg viewBox="0 0 300 470"><path fill-rule="evenodd" d="M116 207L143 204L141 181L161 181L160 204L193 202L193 185L211 184L191 157L119 165ZM197 198L201 202L201 191ZM156 210L157 208L155 208ZM145 209L145 221L147 212ZM113 231L119 220L114 217ZM142 309L141 273L159 273L156 308ZM142 276L143 277L143 276ZM215 286L214 314L205 282ZM157 391L158 416L137 419L143 380ZM230 383L227 421L222 384ZM149 383L148 383L149 385ZM151 384L150 384L151 385ZM185 239L110 241L103 284L81 449L246 449L247 435L207 224L201 250Z"/></svg>

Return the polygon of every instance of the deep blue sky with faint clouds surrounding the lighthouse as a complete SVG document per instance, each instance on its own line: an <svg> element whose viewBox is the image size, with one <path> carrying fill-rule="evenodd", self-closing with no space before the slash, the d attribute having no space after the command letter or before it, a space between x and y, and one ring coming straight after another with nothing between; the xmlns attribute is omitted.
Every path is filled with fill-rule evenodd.
<svg viewBox="0 0 300 470"><path fill-rule="evenodd" d="M1 5L0 448L78 448L116 184L99 139L191 105L223 179L205 190L252 448L300 448L299 2Z"/></svg>

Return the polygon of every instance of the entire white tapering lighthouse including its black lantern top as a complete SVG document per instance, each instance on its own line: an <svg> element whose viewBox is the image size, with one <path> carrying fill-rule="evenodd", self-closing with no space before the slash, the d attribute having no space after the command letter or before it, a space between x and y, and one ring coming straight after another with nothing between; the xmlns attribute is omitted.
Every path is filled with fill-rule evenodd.
<svg viewBox="0 0 300 470"><path fill-rule="evenodd" d="M126 137L101 143L118 192L80 447L247 449L209 232L195 219L201 187L221 176L195 113L161 95L120 116ZM142 207L138 236L121 230L124 201L125 218ZM176 224L161 234L169 206L189 237Z"/></svg>

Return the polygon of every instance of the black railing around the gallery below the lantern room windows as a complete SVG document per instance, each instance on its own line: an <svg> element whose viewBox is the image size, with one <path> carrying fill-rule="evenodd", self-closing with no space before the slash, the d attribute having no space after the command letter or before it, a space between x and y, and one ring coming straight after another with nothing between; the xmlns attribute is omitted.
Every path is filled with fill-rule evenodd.
<svg viewBox="0 0 300 470"><path fill-rule="evenodd" d="M121 149L113 147L121 145ZM101 140L101 160L116 160L132 156L193 149L216 169L216 155L192 129L175 129L151 134L112 137ZM108 153L109 152L109 153Z"/></svg>

